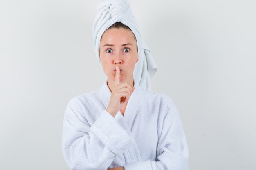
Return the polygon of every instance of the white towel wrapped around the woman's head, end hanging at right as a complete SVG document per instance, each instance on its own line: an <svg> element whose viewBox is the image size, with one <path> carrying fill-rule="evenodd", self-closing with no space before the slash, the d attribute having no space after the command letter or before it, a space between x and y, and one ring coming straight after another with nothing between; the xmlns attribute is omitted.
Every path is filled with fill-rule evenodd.
<svg viewBox="0 0 256 170"><path fill-rule="evenodd" d="M132 15L128 0L100 0L98 3L97 15L92 27L94 51L98 62L101 64L99 58L101 36L106 29L116 22L121 22L128 26L137 39L139 61L135 64L133 71L134 81L141 88L151 90L150 78L157 72L157 66L148 46L141 38L139 27L135 16Z"/></svg>

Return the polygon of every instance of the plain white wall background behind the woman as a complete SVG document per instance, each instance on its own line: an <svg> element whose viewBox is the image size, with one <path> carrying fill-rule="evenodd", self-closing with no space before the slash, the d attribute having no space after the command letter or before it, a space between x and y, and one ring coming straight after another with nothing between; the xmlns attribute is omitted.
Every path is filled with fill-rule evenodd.
<svg viewBox="0 0 256 170"><path fill-rule="evenodd" d="M256 1L130 0L177 106L190 170L256 169ZM0 1L0 169L68 170L69 100L105 80L93 51L97 0Z"/></svg>

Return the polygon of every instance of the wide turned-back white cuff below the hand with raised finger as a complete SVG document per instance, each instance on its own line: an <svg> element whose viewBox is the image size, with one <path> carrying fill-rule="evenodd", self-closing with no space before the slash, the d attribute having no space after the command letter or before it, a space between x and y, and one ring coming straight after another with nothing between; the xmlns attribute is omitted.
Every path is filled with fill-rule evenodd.
<svg viewBox="0 0 256 170"><path fill-rule="evenodd" d="M90 130L116 155L123 154L134 142L107 110L103 110Z"/></svg>

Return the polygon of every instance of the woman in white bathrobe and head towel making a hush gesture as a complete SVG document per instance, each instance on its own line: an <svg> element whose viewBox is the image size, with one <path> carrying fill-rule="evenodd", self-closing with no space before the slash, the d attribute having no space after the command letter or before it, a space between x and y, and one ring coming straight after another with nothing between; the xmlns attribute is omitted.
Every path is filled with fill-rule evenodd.
<svg viewBox="0 0 256 170"><path fill-rule="evenodd" d="M129 11L126 0L109 2L112 4L101 1L99 9L110 12L124 2L126 8L121 5L119 9ZM122 16L121 11L113 13ZM104 12L98 13L104 20ZM106 79L101 88L74 97L66 108L65 161L72 170L188 170L189 150L178 110L168 95L150 91L148 77L141 75L145 75L143 63L150 65L151 60L152 66L153 60L145 52L138 29L127 26L132 23L127 22L128 17L119 22L113 13L115 20L107 18L108 24L114 23L101 24L104 29L94 31L96 55ZM146 73L150 75L148 70Z"/></svg>

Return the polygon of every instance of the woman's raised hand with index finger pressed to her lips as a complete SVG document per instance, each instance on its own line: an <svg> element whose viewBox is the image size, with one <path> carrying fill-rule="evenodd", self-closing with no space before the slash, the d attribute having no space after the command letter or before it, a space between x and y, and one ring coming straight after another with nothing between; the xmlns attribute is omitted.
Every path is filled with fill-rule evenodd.
<svg viewBox="0 0 256 170"><path fill-rule="evenodd" d="M110 101L107 111L113 117L121 108L128 102L130 95L132 95L134 88L127 83L120 84L120 69L117 66L115 76L115 87L111 91Z"/></svg>

